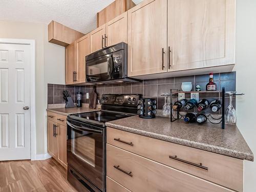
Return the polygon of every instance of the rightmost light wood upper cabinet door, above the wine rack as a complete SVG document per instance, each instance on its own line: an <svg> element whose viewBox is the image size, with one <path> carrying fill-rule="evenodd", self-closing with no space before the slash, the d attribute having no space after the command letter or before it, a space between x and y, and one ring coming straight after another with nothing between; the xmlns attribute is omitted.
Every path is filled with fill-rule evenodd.
<svg viewBox="0 0 256 192"><path fill-rule="evenodd" d="M235 0L168 0L168 71L234 64Z"/></svg>

